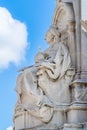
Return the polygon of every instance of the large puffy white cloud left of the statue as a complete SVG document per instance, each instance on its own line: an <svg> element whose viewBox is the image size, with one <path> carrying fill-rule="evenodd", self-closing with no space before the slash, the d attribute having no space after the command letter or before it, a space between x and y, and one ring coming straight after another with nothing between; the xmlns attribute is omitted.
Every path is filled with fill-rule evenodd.
<svg viewBox="0 0 87 130"><path fill-rule="evenodd" d="M26 47L25 24L14 19L6 8L0 7L0 69L8 67L9 63L19 64Z"/></svg>

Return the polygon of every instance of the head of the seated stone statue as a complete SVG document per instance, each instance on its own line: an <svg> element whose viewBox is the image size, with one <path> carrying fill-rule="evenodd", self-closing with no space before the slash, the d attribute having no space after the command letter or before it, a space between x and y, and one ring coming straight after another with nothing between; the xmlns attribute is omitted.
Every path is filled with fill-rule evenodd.
<svg viewBox="0 0 87 130"><path fill-rule="evenodd" d="M61 37L60 35L58 28L56 26L51 26L46 33L45 40L47 43L53 44L55 42L59 42Z"/></svg>

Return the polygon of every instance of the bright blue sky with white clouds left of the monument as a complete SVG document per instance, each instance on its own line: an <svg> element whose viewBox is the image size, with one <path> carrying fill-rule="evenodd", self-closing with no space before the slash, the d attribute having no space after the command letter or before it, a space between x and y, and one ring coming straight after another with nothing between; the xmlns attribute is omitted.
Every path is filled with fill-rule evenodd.
<svg viewBox="0 0 87 130"><path fill-rule="evenodd" d="M85 10L87 0L83 3ZM38 48L48 46L44 38L55 4L55 0L0 0L0 130L13 125L17 70L33 64Z"/></svg>

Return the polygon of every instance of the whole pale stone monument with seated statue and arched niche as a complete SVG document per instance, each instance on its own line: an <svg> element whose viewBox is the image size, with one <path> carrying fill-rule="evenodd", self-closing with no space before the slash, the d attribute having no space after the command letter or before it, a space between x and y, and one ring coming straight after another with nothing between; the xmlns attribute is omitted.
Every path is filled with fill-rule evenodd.
<svg viewBox="0 0 87 130"><path fill-rule="evenodd" d="M87 130L87 22L80 12L81 0L56 1L49 47L17 78L14 130Z"/></svg>

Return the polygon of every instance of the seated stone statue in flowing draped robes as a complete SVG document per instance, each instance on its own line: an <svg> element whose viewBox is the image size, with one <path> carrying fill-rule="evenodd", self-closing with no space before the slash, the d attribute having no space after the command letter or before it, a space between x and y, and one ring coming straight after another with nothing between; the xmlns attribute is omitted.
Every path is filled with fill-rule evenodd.
<svg viewBox="0 0 87 130"><path fill-rule="evenodd" d="M28 111L41 122L49 123L57 105L70 103L69 84L74 71L68 47L61 42L61 32L54 26L48 30L46 41L49 48L39 51L35 65L23 69L17 78L14 117Z"/></svg>

